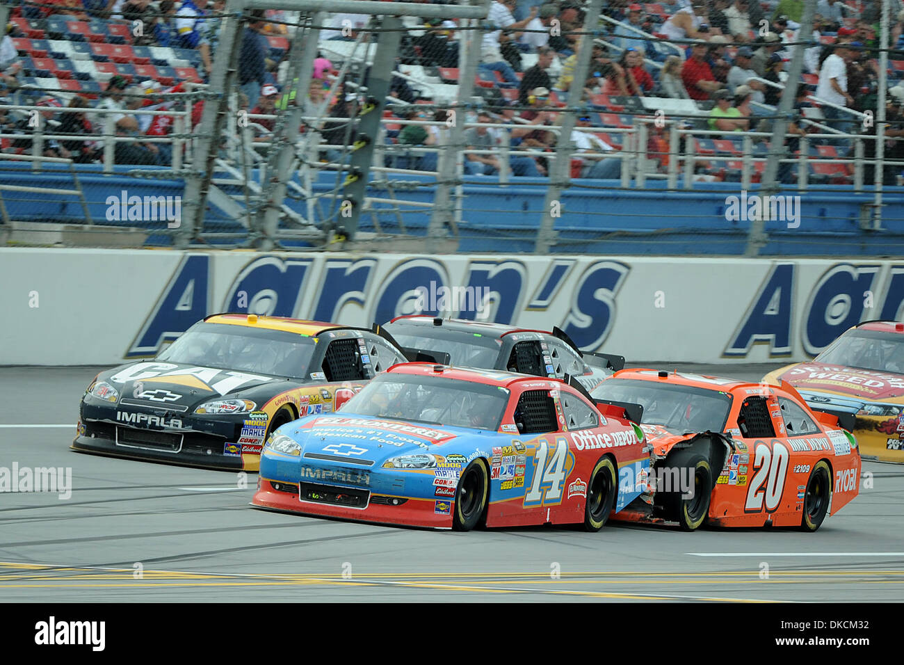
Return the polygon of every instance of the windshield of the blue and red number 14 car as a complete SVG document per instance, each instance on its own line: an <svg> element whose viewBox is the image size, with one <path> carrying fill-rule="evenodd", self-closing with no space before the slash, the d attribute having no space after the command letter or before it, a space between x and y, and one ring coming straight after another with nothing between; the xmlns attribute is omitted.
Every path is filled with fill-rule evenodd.
<svg viewBox="0 0 904 665"><path fill-rule="evenodd" d="M377 375L340 411L411 423L499 428L509 391L443 376Z"/></svg>

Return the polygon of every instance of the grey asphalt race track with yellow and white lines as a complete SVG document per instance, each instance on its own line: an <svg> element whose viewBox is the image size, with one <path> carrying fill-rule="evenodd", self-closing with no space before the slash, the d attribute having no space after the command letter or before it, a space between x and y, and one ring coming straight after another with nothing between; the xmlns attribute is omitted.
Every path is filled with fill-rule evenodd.
<svg viewBox="0 0 904 665"><path fill-rule="evenodd" d="M772 366L683 366L757 381ZM71 468L71 497L0 493L0 600L899 601L904 467L814 534L619 526L434 532L250 508L256 475L69 449L99 367L0 367L0 467ZM669 367L672 369L672 367ZM19 425L27 425L25 427ZM247 485L242 487L243 482ZM864 484L871 485L869 489Z"/></svg>

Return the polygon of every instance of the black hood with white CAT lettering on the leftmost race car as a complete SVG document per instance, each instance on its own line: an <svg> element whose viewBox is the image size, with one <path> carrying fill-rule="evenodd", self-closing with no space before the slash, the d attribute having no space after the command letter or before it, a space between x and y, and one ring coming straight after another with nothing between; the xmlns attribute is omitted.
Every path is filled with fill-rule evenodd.
<svg viewBox="0 0 904 665"><path fill-rule="evenodd" d="M118 390L120 405L186 412L210 400L243 396L254 387L285 379L154 361L119 366L102 372L97 380Z"/></svg>

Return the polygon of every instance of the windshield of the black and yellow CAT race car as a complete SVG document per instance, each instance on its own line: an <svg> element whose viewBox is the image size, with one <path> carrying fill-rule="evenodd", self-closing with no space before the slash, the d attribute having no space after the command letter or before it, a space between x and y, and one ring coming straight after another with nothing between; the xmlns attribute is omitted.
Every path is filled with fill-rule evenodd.
<svg viewBox="0 0 904 665"><path fill-rule="evenodd" d="M285 330L198 323L157 360L304 379L314 339Z"/></svg>

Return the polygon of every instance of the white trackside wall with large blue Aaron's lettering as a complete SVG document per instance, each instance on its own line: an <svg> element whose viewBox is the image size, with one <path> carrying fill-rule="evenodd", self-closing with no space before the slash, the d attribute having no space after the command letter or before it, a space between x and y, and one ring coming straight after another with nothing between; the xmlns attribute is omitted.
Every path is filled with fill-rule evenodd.
<svg viewBox="0 0 904 665"><path fill-rule="evenodd" d="M558 325L629 361L790 362L904 314L904 261L7 248L0 283L0 365L153 356L214 312L369 327L417 308Z"/></svg>

